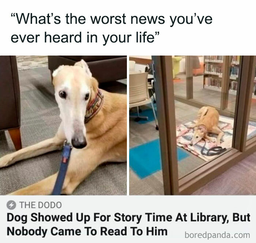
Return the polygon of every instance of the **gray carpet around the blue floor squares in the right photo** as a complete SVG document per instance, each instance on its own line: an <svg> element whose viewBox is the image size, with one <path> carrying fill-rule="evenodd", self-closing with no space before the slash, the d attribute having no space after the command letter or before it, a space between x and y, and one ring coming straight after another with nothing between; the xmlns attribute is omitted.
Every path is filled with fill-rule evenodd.
<svg viewBox="0 0 256 243"><path fill-rule="evenodd" d="M140 107L148 109L146 106ZM179 101L175 101L176 125L184 124L195 119L199 109L189 106ZM155 129L155 122L138 124L134 118L129 119L129 147L133 148L140 144L147 143L159 138L159 132ZM189 156L178 163L178 176L181 178L195 168L206 163L199 157L189 153ZM130 169L129 171L129 194L130 195L162 195L163 194L163 176L162 170L151 174L147 178L139 177Z"/></svg>

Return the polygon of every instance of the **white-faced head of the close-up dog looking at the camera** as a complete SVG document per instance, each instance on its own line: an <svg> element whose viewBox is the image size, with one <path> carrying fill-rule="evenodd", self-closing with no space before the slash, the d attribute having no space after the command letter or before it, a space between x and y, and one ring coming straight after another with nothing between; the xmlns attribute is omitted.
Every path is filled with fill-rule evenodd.
<svg viewBox="0 0 256 243"><path fill-rule="evenodd" d="M98 81L84 60L74 66L61 65L52 76L65 136L74 148L84 148L87 145L84 116L88 103L97 95Z"/></svg>

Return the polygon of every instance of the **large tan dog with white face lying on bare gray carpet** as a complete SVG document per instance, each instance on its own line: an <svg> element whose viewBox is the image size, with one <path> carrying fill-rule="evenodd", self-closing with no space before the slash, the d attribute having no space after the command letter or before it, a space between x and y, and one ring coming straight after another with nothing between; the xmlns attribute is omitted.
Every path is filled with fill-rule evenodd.
<svg viewBox="0 0 256 243"><path fill-rule="evenodd" d="M100 90L84 60L61 65L52 75L62 120L56 135L1 157L0 167L61 149L67 140L73 149L62 194L72 194L99 164L127 160L127 96ZM56 178L57 173L11 195L49 195Z"/></svg>

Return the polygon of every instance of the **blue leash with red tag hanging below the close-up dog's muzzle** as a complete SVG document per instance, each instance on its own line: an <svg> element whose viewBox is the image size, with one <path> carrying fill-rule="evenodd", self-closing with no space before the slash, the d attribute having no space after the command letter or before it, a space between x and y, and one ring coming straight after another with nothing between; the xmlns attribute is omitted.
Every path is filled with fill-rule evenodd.
<svg viewBox="0 0 256 243"><path fill-rule="evenodd" d="M60 169L59 173L52 191L52 195L60 195L62 186L64 183L65 175L68 169L68 162L69 162L69 156L71 153L71 145L65 141L64 147L63 147L63 152L62 152L62 159L60 163Z"/></svg>

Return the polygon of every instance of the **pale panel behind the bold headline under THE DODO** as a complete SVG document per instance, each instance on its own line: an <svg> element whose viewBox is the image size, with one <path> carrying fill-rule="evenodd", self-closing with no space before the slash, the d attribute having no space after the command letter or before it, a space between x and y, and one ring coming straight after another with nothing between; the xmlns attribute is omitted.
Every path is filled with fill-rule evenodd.
<svg viewBox="0 0 256 243"><path fill-rule="evenodd" d="M14 210L8 210L6 203L8 200L15 200L17 207ZM252 196L1 196L0 197L0 239L5 239L3 242L17 242L17 240L23 242L42 242L46 239L57 239L61 242L72 242L75 238L75 242L255 242L255 204L256 198ZM18 201L61 201L61 209L20 209ZM102 214L114 214L116 212L126 214L144 214L145 212L155 212L156 214L172 214L175 216L178 212L190 214L191 212L203 212L204 214L228 214L229 224L221 223L204 223L204 222L158 222L158 223L147 223L143 220L139 225L136 223L120 223L111 220L109 223L93 222L88 223L86 226L95 228L109 227L109 228L122 228L124 226L138 226L144 229L147 226L157 226L158 228L167 228L168 236L98 236L98 237L87 237L84 233L81 236L76 237L57 237L47 236L43 239L40 237L9 237L6 238L6 225L15 227L31 227L37 228L39 226L43 228L50 228L52 226L62 228L80 228L83 229L84 225L82 222L73 223L34 223L21 224L14 222L6 222L7 212L15 214L30 214L31 212L40 211L43 214L68 214L73 213L84 213L93 214L99 212ZM231 221L233 212L247 214L250 212L251 223L234 222ZM229 233L250 233L250 239L185 239L185 231L190 233L222 233L224 231ZM82 231L83 232L83 231Z"/></svg>

